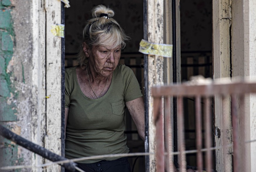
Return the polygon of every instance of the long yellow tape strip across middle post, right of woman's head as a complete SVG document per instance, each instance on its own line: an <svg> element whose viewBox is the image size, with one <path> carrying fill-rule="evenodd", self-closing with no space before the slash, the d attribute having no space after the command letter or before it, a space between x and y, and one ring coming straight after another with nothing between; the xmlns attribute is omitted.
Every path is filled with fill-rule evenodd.
<svg viewBox="0 0 256 172"><path fill-rule="evenodd" d="M172 45L156 44L148 42L144 39L140 41L139 52L143 54L152 54L157 56L172 57Z"/></svg>

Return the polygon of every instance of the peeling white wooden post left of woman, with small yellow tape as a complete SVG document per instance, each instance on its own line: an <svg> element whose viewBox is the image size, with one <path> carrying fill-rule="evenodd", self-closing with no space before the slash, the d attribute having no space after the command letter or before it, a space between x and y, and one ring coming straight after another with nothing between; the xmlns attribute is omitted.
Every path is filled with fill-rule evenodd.
<svg viewBox="0 0 256 172"><path fill-rule="evenodd" d="M51 33L52 25L61 24L61 1L45 0L46 11L46 135L45 148L62 154L62 47L61 38ZM60 166L46 167L47 171L60 171Z"/></svg>

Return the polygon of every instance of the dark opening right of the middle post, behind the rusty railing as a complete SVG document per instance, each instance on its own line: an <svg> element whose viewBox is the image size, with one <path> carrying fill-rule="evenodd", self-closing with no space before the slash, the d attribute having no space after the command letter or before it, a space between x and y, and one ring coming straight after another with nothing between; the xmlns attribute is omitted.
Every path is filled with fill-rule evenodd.
<svg viewBox="0 0 256 172"><path fill-rule="evenodd" d="M213 78L212 1L181 1L180 29L181 80L188 81L191 76L195 75L202 75L204 78ZM212 106L211 116L213 116L213 99L210 101ZM192 150L196 148L195 97L184 97L183 102L184 119L186 119L184 121L186 150ZM204 106L203 101L200 102L201 106ZM177 126L174 129L177 129ZM211 130L213 133L213 123ZM214 142L213 136L212 134L212 140ZM212 143L212 145L214 144ZM175 148L177 151L177 145ZM203 154L203 156L205 155ZM187 165L197 166L196 154L187 154L186 158ZM177 159L175 162L177 163ZM213 169L215 169L215 159L213 159L212 164Z"/></svg>

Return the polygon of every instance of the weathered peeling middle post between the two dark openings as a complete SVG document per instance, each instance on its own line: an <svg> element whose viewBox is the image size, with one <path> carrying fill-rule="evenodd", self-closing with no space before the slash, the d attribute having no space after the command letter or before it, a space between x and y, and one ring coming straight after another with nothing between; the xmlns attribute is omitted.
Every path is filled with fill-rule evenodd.
<svg viewBox="0 0 256 172"><path fill-rule="evenodd" d="M144 58L145 152L154 152L156 149L151 87L153 85L163 85L164 83L180 82L179 18L179 1L144 0L144 39L153 43L174 44L172 59L154 55L146 55ZM162 109L164 106L172 106L175 102L170 98L165 104L162 104ZM170 109L169 113L173 114L175 112ZM170 119L170 121L173 121L173 119ZM146 171L155 171L155 165L155 155L146 157Z"/></svg>

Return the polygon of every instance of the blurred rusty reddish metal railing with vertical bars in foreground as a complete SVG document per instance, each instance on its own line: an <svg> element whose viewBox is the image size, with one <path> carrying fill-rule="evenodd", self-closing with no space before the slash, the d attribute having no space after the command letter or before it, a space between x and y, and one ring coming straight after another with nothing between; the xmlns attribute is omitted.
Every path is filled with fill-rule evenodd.
<svg viewBox="0 0 256 172"><path fill-rule="evenodd" d="M226 171L227 166L231 162L225 162L225 156L233 150L233 171L238 172L244 163L245 157L245 113L244 113L244 98L245 94L256 93L256 82L247 82L245 80L235 82L213 82L211 79L194 80L183 84L170 86L155 86L152 87L152 97L154 98L154 121L156 125L156 144L157 144L157 172L174 171L172 163L173 155L178 154L179 170L186 171L186 154L196 153L197 155L197 170L213 171L212 169L212 152L215 149L221 149L223 152L224 166L221 171ZM227 139L230 133L226 132L225 126L228 125L229 114L223 113L222 131L220 137L222 138L221 147L212 147L212 116L210 115L211 99L213 96L220 95L222 102L231 97L231 119L233 135L233 144L228 145ZM178 152L172 150L172 136L173 127L170 122L170 106L165 106L164 113L162 112L162 104L168 104L170 98L177 97L177 123L178 123ZM196 103L196 150L185 150L184 139L184 115L183 115L183 97L195 97ZM201 100L204 100L204 113L202 115ZM239 103L239 108L238 108ZM223 112L225 112L225 103L222 103ZM230 118L230 117L229 117ZM202 120L204 119L204 120ZM204 126L202 125L204 124ZM204 128L204 138L202 135L202 128ZM238 132L240 131L240 132ZM204 145L203 145L204 140ZM166 150L165 150L166 147ZM242 150L242 151L241 151ZM165 151L167 153L165 153ZM203 159L203 152L206 152L206 158ZM216 160L218 161L218 160ZM204 168L203 166L206 166Z"/></svg>

